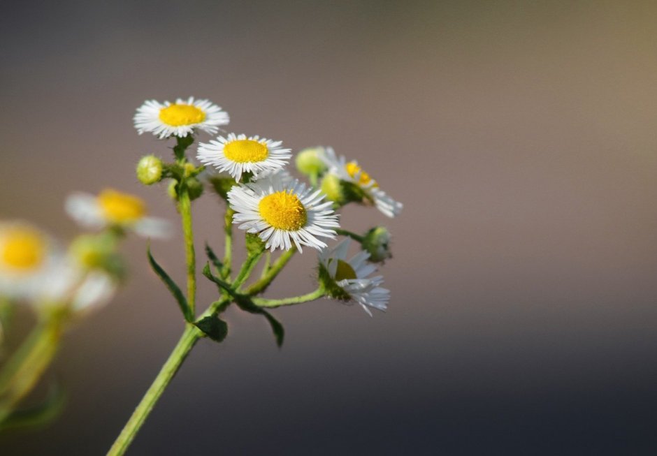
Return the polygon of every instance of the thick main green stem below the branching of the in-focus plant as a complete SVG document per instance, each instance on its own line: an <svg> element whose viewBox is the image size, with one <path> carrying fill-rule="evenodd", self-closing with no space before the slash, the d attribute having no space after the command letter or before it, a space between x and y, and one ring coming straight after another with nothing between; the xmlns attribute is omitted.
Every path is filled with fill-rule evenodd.
<svg viewBox="0 0 657 456"><path fill-rule="evenodd" d="M226 304L226 302L228 302L227 298L212 302L210 307L208 307L208 310L203 312L203 315L199 317L199 320L214 314L217 309ZM180 369L182 362L185 361L189 352L192 351L192 348L194 348L198 339L201 339L203 335L203 332L196 328L192 323L187 323L185 325L185 331L182 332L178 344L173 348L171 355L169 355L164 366L160 369L159 374L157 374L157 377L155 377L150 388L148 388L143 399L141 399L141 402L138 404L137 408L124 426L121 434L119 434L112 448L110 448L107 453L108 456L123 455L126 452L158 399L161 397L168 384L171 383L175 373Z"/></svg>

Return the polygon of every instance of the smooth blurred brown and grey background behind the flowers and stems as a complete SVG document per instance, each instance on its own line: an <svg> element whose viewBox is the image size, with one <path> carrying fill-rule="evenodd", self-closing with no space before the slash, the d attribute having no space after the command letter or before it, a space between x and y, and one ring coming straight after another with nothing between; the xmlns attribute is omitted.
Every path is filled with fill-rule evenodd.
<svg viewBox="0 0 657 456"><path fill-rule="evenodd" d="M657 7L626 1L14 2L0 16L0 213L77 232L71 191L137 193L168 144L145 99L193 95L229 131L354 157L405 210L385 223L387 313L319 301L229 311L130 455L657 452ZM201 140L208 140L202 135ZM194 203L197 247L223 207ZM131 280L68 334L66 411L2 455L101 455L173 348L176 304L132 239ZM184 276L182 238L154 254ZM312 289L304 251L268 293ZM200 302L213 297L201 282Z"/></svg>

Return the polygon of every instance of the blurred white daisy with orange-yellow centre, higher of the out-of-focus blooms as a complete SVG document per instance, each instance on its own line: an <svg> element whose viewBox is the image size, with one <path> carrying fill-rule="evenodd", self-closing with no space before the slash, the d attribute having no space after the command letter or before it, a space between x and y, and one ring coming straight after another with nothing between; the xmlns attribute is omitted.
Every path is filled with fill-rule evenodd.
<svg viewBox="0 0 657 456"><path fill-rule="evenodd" d="M66 198L66 212L86 228L114 226L145 237L167 237L170 233L166 220L146 216L143 200L113 189L98 196L73 193Z"/></svg>

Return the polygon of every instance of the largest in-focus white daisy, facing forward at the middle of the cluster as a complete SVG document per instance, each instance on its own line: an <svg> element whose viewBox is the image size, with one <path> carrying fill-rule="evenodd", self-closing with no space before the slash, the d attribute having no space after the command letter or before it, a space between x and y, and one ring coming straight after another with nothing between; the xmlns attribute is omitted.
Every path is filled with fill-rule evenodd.
<svg viewBox="0 0 657 456"><path fill-rule="evenodd" d="M251 184L233 186L228 200L236 212L233 223L248 233L259 233L265 247L289 250L292 242L301 251L301 245L321 250L326 244L317 237L335 238L339 228L338 216L333 213L331 201L322 203L321 191L306 189L298 180L286 179L284 173L275 173Z"/></svg>

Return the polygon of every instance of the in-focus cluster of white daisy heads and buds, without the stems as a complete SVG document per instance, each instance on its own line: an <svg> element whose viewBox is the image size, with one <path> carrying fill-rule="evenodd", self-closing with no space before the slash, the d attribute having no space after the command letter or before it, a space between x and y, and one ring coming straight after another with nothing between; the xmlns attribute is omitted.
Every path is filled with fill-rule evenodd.
<svg viewBox="0 0 657 456"><path fill-rule="evenodd" d="M215 133L216 126L227 124L228 119L217 105L194 101L193 97L187 101L178 98L175 103L146 101L134 118L139 133L150 131L157 138L176 136L179 145L180 138L193 138L196 131ZM192 141L187 142L191 145ZM178 166L181 159L191 165L186 157L177 158ZM232 223L257 235L264 249L317 249L317 279L325 296L358 302L368 313L368 308L386 309L389 292L380 287L382 277L368 276L376 270L373 263L391 257L389 232L375 227L364 235L350 233L340 228L336 211L348 203L359 203L374 205L394 217L400 214L402 205L387 196L356 161L337 156L331 147L303 149L295 163L297 170L308 177L310 184L306 184L285 169L291 151L281 141L243 133L227 133L201 142L196 159L215 170L210 179L228 203ZM165 163L162 174L163 166L154 167L153 161L154 157L145 156L140 162L142 182L152 184L161 177L175 177L175 172L166 172L174 169L175 163ZM230 178L222 177L222 173ZM175 188L185 185L180 177L174 182ZM172 196L176 198L179 193L173 191ZM347 240L329 247L326 240L338 235ZM349 238L359 242L362 250L347 261Z"/></svg>

